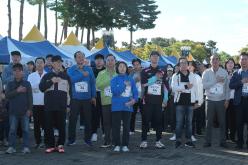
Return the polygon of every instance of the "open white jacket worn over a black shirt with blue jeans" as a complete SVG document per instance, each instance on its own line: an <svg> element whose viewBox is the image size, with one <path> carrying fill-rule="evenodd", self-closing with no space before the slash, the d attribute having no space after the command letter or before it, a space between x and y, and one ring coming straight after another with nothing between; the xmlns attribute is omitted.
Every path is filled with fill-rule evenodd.
<svg viewBox="0 0 248 165"><path fill-rule="evenodd" d="M198 105L203 103L203 85L202 79L199 75L195 73L189 74L189 83L193 84L191 89L185 89L185 84L180 82L181 75L179 73L175 73L172 76L171 87L172 92L174 92L174 103L177 103L180 99L181 93L190 92L191 94L191 103L198 102Z"/></svg>

